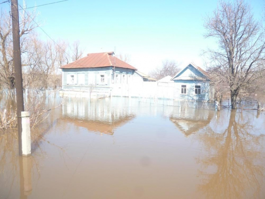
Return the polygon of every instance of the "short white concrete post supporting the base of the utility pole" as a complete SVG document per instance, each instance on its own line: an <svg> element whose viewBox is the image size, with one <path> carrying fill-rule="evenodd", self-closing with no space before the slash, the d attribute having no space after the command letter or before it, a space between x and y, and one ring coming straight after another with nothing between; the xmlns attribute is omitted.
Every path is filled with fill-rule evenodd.
<svg viewBox="0 0 265 199"><path fill-rule="evenodd" d="M29 112L21 112L22 123L22 155L30 156L31 154L31 140L30 140L30 118Z"/></svg>

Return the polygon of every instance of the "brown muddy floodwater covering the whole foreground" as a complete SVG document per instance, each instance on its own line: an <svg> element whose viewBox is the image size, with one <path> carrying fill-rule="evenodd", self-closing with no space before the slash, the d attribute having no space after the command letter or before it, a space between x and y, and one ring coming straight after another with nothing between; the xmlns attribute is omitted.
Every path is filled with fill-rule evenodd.
<svg viewBox="0 0 265 199"><path fill-rule="evenodd" d="M31 157L0 133L0 198L265 198L264 129L253 110L66 98Z"/></svg>

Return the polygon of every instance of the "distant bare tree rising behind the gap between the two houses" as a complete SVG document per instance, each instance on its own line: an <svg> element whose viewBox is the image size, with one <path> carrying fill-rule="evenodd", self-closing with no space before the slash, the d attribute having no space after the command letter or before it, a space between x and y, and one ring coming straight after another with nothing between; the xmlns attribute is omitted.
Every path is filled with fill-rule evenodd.
<svg viewBox="0 0 265 199"><path fill-rule="evenodd" d="M180 71L178 66L179 64L177 64L175 61L166 60L163 61L162 67L157 67L156 69L152 70L149 75L157 80L160 80L167 75L174 76Z"/></svg>

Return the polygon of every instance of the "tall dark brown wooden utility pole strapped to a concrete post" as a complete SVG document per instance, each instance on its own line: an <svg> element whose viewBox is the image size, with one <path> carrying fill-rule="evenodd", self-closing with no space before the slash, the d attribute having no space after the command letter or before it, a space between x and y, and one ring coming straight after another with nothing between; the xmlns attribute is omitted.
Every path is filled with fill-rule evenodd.
<svg viewBox="0 0 265 199"><path fill-rule="evenodd" d="M12 10L12 35L13 35L13 58L15 68L15 86L17 98L17 127L18 127L18 153L22 155L22 124L21 112L24 111L20 36L19 36L19 16L17 0L11 0Z"/></svg>

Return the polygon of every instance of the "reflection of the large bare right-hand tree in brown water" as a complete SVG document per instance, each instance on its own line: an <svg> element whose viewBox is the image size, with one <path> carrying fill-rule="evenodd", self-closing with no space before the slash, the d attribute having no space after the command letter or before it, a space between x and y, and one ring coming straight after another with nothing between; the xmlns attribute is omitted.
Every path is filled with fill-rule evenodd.
<svg viewBox="0 0 265 199"><path fill-rule="evenodd" d="M260 196L265 166L264 135L251 132L255 133L252 121L240 123L233 111L222 133L215 133L208 126L204 133L197 134L206 149L206 156L198 158L198 163L204 170L211 166L216 169L212 174L200 171L203 180L198 189L208 198L264 197Z"/></svg>

